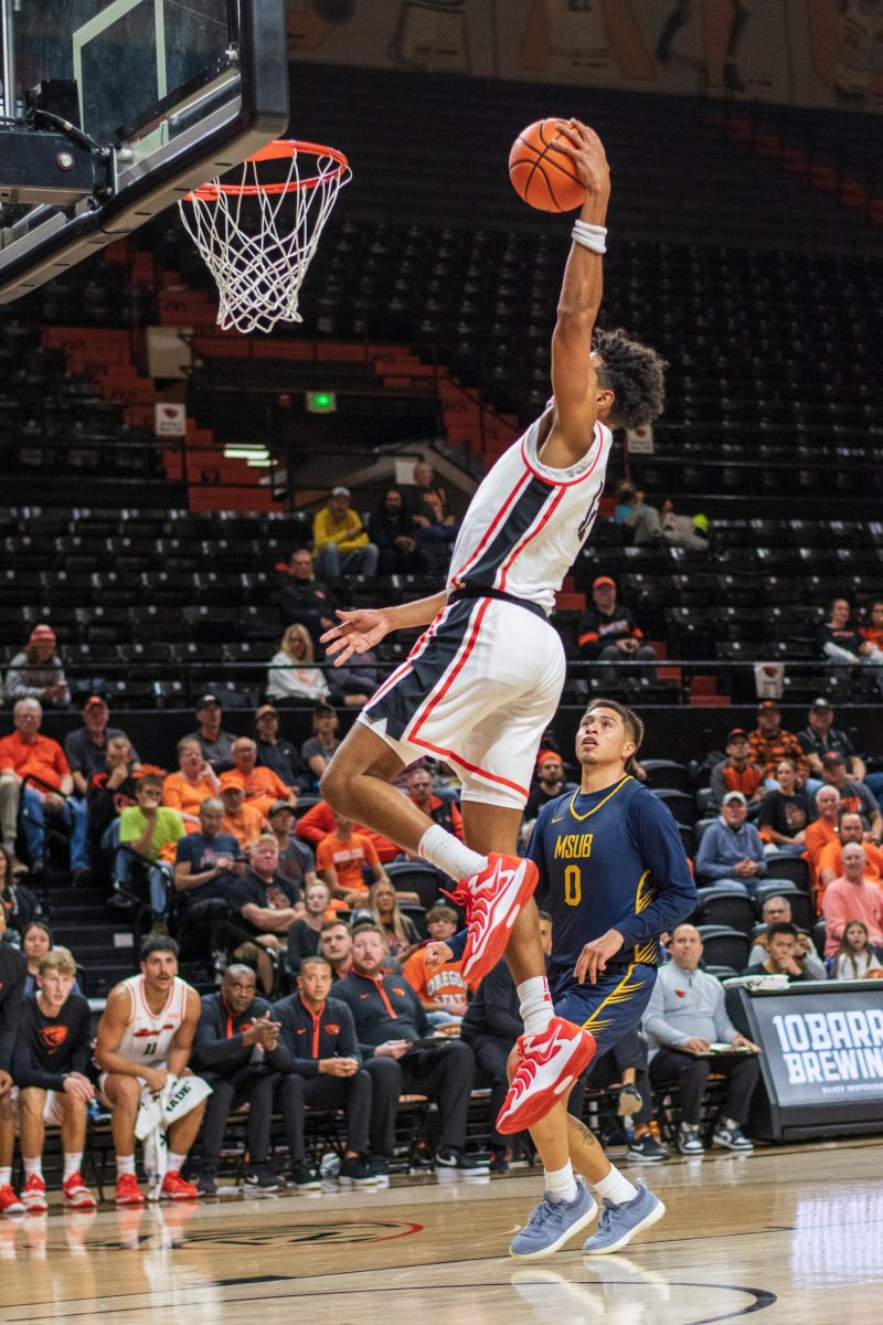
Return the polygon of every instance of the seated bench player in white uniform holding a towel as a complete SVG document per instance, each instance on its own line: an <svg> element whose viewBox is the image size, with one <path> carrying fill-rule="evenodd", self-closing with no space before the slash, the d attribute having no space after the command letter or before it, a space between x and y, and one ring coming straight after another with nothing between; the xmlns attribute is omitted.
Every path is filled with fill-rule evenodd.
<svg viewBox="0 0 883 1325"><path fill-rule="evenodd" d="M177 974L177 943L148 934L142 945L142 974L111 990L98 1023L95 1063L98 1088L111 1109L116 1151L116 1204L140 1206L144 1196L135 1175L135 1124L143 1088L165 1092L169 1080L192 1076L187 1069L200 1019L200 996ZM196 1200L193 1183L180 1170L196 1141L205 1100L168 1128L168 1167L159 1195Z"/></svg>

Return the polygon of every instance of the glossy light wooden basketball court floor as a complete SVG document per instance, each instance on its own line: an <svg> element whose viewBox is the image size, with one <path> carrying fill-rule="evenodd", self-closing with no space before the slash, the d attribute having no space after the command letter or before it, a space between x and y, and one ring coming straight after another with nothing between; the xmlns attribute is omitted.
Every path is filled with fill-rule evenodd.
<svg viewBox="0 0 883 1325"><path fill-rule="evenodd" d="M883 1320L883 1138L639 1169L626 1255L506 1255L537 1171L0 1219L0 1320L142 1325L801 1325ZM442 1175L447 1179L450 1175Z"/></svg>

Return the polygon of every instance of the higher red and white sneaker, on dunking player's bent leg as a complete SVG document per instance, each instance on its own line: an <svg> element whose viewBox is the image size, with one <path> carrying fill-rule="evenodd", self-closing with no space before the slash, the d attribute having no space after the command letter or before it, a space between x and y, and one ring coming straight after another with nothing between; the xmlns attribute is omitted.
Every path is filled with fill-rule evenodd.
<svg viewBox="0 0 883 1325"><path fill-rule="evenodd" d="M466 909L469 935L461 962L465 980L478 982L496 966L539 877L532 860L491 852L486 868L450 894Z"/></svg>

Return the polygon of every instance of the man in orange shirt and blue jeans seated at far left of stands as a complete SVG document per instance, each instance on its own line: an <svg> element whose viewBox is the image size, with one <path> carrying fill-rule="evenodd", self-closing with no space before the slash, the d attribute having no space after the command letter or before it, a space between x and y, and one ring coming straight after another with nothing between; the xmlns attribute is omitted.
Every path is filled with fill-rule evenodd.
<svg viewBox="0 0 883 1325"><path fill-rule="evenodd" d="M3 844L15 857L19 808L24 800L21 827L32 873L42 873L46 819L57 819L70 832L70 868L74 884L82 884L90 877L86 807L73 795L74 779L64 750L52 737L40 734L42 708L38 700L19 700L12 712L12 722L15 731L0 741ZM38 784L28 782L23 796L21 784L25 778L37 778Z"/></svg>

